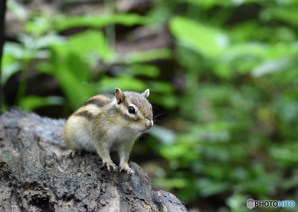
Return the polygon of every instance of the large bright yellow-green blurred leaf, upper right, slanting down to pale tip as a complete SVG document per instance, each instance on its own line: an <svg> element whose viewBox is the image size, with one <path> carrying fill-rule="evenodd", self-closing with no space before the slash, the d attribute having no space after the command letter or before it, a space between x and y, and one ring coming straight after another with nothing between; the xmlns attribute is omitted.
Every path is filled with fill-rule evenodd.
<svg viewBox="0 0 298 212"><path fill-rule="evenodd" d="M174 16L169 29L181 43L207 57L219 56L228 43L225 34L189 18Z"/></svg>

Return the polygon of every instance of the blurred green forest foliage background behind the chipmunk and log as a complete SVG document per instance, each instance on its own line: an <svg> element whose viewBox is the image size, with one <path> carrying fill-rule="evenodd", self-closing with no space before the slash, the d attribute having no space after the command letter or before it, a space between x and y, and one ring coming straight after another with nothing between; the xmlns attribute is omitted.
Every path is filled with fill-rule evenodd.
<svg viewBox="0 0 298 212"><path fill-rule="evenodd" d="M66 118L92 95L149 88L161 115L131 160L154 190L193 212L298 203L297 11L297 0L8 0L2 112Z"/></svg>

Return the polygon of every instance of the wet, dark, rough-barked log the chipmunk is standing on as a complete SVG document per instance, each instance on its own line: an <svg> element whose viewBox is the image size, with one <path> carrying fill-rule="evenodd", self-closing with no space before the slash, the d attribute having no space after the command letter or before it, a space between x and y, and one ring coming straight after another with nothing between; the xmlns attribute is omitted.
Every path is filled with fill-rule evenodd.
<svg viewBox="0 0 298 212"><path fill-rule="evenodd" d="M107 172L92 153L63 157L64 124L19 110L1 115L0 211L187 211L173 194L154 192L134 162L130 176Z"/></svg>

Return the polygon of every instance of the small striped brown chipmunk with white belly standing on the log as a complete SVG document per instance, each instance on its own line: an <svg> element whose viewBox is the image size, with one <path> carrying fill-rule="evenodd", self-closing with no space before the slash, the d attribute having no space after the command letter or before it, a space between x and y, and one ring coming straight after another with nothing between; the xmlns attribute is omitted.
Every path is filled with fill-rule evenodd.
<svg viewBox="0 0 298 212"><path fill-rule="evenodd" d="M121 91L116 95L102 94L89 98L73 113L64 128L64 140L71 150L66 156L74 156L76 150L98 153L108 171L120 167L134 175L128 166L128 158L139 135L153 126L152 106L147 100L149 89L143 93ZM110 151L117 150L120 158L117 167Z"/></svg>

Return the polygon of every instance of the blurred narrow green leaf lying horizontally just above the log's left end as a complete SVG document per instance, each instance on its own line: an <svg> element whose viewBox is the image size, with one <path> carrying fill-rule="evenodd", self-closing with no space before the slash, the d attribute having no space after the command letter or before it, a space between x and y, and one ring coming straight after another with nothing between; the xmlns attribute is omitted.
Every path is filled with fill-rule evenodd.
<svg viewBox="0 0 298 212"><path fill-rule="evenodd" d="M19 100L18 106L25 111L32 111L41 107L51 105L63 105L64 98L60 96L24 96Z"/></svg>

